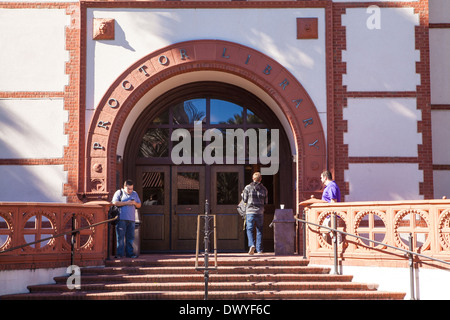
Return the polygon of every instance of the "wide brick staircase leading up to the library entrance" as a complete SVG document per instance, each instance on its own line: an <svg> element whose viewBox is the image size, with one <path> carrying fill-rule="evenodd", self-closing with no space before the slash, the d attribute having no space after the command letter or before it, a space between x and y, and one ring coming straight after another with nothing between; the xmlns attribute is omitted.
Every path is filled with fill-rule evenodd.
<svg viewBox="0 0 450 320"><path fill-rule="evenodd" d="M202 263L203 260L200 260ZM210 266L213 265L210 258ZM0 300L203 300L205 278L194 268L193 255L142 255L106 261L104 267L81 269L81 289L70 290L67 277L55 284L29 286L29 293ZM219 254L210 271L209 300L275 299L403 299L405 293L381 292L378 285L352 282L350 275L330 274L327 267L309 266L300 256L273 253Z"/></svg>

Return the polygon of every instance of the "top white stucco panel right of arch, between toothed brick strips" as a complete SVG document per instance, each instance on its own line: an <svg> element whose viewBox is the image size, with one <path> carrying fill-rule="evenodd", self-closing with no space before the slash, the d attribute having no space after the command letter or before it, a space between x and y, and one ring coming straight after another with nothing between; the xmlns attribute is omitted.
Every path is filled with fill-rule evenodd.
<svg viewBox="0 0 450 320"><path fill-rule="evenodd" d="M418 15L413 8L379 8L378 16L374 14L367 8L348 8L342 15L347 36L343 84L348 91L415 91L420 84L416 74L420 52L415 50Z"/></svg>

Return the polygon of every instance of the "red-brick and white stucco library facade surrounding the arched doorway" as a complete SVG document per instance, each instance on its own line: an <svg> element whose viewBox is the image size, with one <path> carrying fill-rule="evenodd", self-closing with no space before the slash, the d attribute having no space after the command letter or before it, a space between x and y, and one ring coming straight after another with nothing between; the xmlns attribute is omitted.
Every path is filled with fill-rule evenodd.
<svg viewBox="0 0 450 320"><path fill-rule="evenodd" d="M445 196L449 12L445 0L2 1L0 201L110 199L128 177L145 200L144 177L177 173L137 155L143 128L171 103L227 94L283 132L273 207L320 195L327 168L345 201ZM259 165L233 171L239 186ZM198 167L212 196L221 169Z"/></svg>

